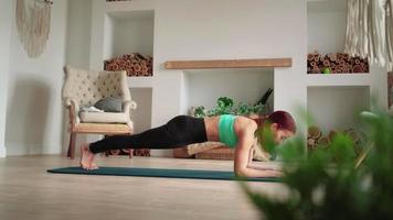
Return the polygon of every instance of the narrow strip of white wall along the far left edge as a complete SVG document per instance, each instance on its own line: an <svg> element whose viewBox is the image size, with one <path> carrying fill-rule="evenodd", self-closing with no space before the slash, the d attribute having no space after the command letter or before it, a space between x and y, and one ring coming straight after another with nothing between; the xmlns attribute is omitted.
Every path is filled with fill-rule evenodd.
<svg viewBox="0 0 393 220"><path fill-rule="evenodd" d="M7 88L10 63L12 1L0 0L0 157L6 156Z"/></svg>

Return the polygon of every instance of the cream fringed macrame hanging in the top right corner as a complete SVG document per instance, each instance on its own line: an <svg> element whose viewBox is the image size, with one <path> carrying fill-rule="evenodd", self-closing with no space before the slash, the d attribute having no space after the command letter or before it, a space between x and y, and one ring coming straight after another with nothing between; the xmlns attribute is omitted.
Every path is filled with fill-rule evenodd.
<svg viewBox="0 0 393 220"><path fill-rule="evenodd" d="M393 70L393 0L348 0L346 53Z"/></svg>

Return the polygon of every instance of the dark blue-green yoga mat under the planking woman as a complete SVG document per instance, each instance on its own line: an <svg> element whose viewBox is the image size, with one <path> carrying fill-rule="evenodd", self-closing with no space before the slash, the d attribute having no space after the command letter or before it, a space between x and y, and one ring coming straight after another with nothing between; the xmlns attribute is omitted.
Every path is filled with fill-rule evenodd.
<svg viewBox="0 0 393 220"><path fill-rule="evenodd" d="M99 167L99 169L85 170L81 167L64 167L49 169L54 174L107 175L107 176L144 176L163 178L193 178L216 180L247 180L247 182L280 182L279 178L242 178L235 177L233 172L195 170L170 168L139 168L139 167Z"/></svg>

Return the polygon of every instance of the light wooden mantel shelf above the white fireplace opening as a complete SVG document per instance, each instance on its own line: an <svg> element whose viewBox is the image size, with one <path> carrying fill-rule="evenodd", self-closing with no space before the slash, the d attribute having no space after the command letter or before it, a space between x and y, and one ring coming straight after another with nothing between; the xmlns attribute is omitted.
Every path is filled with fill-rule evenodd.
<svg viewBox="0 0 393 220"><path fill-rule="evenodd" d="M291 58L169 61L164 63L166 69L261 68L291 67Z"/></svg>

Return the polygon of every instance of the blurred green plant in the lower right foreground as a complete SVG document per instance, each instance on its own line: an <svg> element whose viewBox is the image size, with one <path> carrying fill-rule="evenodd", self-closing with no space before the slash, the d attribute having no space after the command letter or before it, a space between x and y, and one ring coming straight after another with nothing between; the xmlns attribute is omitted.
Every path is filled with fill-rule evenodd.
<svg viewBox="0 0 393 220"><path fill-rule="evenodd" d="M327 147L309 154L301 135L279 146L265 143L283 160L282 180L289 195L268 197L240 182L261 218L393 219L393 119L378 111L362 112L360 120L368 134L360 166L354 143L343 133L338 133Z"/></svg>

